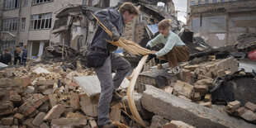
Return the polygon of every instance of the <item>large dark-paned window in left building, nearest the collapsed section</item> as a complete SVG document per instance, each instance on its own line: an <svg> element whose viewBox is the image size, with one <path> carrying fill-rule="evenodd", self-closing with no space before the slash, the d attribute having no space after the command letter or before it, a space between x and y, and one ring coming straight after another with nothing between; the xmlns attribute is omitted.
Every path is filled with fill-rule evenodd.
<svg viewBox="0 0 256 128"><path fill-rule="evenodd" d="M51 13L31 16L31 30L50 29Z"/></svg>

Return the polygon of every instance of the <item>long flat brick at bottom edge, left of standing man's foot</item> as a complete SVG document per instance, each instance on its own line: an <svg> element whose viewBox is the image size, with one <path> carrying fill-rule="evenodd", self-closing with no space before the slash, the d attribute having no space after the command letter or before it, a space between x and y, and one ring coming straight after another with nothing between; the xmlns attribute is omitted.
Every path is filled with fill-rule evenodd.
<svg viewBox="0 0 256 128"><path fill-rule="evenodd" d="M67 126L86 126L87 119L85 118L60 118L53 119L50 122L51 125L67 125Z"/></svg>

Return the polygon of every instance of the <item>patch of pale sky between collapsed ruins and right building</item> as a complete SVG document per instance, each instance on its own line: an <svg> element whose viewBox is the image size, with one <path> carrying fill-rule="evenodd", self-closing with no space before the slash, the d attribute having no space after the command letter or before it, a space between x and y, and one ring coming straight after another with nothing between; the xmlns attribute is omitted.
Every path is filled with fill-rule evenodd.
<svg viewBox="0 0 256 128"><path fill-rule="evenodd" d="M173 3L174 3L175 11L181 11L181 12L178 12L178 20L186 23L186 18L184 16L187 15L185 13L187 12L187 0L173 0Z"/></svg>

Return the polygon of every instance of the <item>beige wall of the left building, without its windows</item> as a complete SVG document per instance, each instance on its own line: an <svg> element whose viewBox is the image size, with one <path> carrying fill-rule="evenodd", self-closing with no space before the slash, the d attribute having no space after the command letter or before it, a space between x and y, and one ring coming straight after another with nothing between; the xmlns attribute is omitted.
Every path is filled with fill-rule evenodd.
<svg viewBox="0 0 256 128"><path fill-rule="evenodd" d="M18 28L17 31L10 31L15 37L7 36L6 40L15 40L16 44L22 42L24 45L28 45L29 49L33 49L33 43L40 43L40 40L44 40L49 43L50 41L59 42L59 36L54 36L51 34L51 28L55 23L55 15L67 7L69 4L83 4L83 0L53 0L52 2L43 2L40 4L32 5L32 0L28 0L28 5L24 6L24 0L21 0L20 7L11 10L3 10L4 1L0 1L0 13L2 14L2 19L7 19L11 17L18 17ZM43 13L52 13L51 28L44 30L31 30L31 15L43 14ZM0 14L0 16L1 16ZM21 31L21 18L26 18L25 30ZM2 20L1 20L2 22ZM0 23L1 23L0 22ZM1 27L2 28L2 23ZM1 29L2 31L2 29ZM36 44L34 44L35 46ZM37 46L35 50L38 49ZM32 54L35 50L29 50L29 55ZM35 55L35 54L34 54Z"/></svg>

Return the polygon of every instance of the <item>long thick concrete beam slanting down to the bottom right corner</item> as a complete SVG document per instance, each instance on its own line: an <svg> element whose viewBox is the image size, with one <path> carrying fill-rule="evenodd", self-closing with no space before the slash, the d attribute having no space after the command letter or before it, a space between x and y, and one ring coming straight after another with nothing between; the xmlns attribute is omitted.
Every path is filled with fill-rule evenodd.
<svg viewBox="0 0 256 128"><path fill-rule="evenodd" d="M175 97L168 92L153 86L146 85L141 98L142 107L168 120L178 120L197 127L224 127L224 128L255 128L242 119L228 116L227 113L201 107L194 102Z"/></svg>

